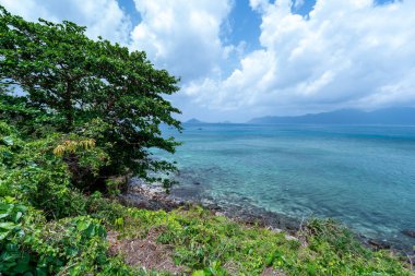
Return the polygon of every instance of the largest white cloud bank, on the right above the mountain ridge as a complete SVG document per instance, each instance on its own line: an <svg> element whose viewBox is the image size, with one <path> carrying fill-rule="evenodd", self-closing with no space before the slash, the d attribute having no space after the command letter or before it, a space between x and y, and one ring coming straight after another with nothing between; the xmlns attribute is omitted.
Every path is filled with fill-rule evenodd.
<svg viewBox="0 0 415 276"><path fill-rule="evenodd" d="M318 0L308 16L289 0L250 4L262 49L225 79L187 85L201 105L256 115L415 105L415 1Z"/></svg>

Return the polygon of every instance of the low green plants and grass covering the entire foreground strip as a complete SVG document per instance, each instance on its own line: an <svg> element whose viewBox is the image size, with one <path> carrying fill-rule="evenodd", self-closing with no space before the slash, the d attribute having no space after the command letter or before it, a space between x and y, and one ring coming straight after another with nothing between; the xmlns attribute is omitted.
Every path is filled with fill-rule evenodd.
<svg viewBox="0 0 415 276"><path fill-rule="evenodd" d="M364 248L330 219L311 219L292 237L198 206L147 211L99 194L72 197L82 203L78 213L50 220L44 211L10 196L0 199L0 274L413 275L403 259ZM135 254L140 262L130 263ZM170 261L167 266L151 266L166 264L161 259Z"/></svg>

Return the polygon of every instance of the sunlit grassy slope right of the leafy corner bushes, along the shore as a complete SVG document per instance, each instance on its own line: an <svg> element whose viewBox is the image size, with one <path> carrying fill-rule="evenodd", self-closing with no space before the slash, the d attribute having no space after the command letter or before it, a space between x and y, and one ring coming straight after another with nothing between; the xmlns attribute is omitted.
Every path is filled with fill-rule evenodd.
<svg viewBox="0 0 415 276"><path fill-rule="evenodd" d="M296 239L285 232L238 224L210 211L192 207L173 212L122 207L116 229L119 239L156 241L173 249L174 262L192 275L412 275L390 251L364 248L333 220L311 219ZM120 221L120 219L122 221Z"/></svg>

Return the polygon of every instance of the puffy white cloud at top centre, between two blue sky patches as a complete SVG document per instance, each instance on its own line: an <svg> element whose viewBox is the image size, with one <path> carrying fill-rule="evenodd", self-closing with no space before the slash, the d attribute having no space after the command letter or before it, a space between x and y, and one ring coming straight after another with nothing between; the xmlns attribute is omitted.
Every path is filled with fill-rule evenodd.
<svg viewBox="0 0 415 276"><path fill-rule="evenodd" d="M132 32L132 48L143 49L157 67L186 83L220 73L232 47L221 41L230 0L134 0L142 22Z"/></svg>

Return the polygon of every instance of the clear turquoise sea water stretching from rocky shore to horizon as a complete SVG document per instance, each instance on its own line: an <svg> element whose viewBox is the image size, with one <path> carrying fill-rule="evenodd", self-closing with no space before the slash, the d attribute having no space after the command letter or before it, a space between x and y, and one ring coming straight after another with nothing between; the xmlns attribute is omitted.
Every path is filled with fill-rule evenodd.
<svg viewBox="0 0 415 276"><path fill-rule="evenodd" d="M185 124L175 136L186 196L415 244L401 232L415 229L415 127Z"/></svg>

